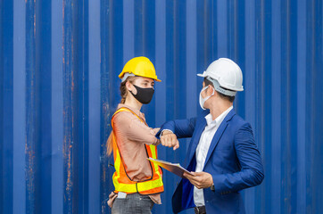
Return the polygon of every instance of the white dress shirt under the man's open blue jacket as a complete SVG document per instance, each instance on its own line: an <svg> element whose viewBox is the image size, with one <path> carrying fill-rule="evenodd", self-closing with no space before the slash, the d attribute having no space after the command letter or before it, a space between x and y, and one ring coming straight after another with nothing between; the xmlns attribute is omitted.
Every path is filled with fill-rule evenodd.
<svg viewBox="0 0 323 214"><path fill-rule="evenodd" d="M205 116L206 119L206 127L203 130L201 135L199 144L197 145L195 157L196 157L196 168L195 172L202 172L204 168L204 162L206 159L206 155L209 152L210 144L213 139L213 136L217 132L219 125L225 117L227 116L228 112L233 109L233 106L229 107L227 111L224 111L219 115L218 118L212 120L211 113ZM196 207L205 205L204 202L204 194L203 189L197 189L194 186L194 202Z"/></svg>

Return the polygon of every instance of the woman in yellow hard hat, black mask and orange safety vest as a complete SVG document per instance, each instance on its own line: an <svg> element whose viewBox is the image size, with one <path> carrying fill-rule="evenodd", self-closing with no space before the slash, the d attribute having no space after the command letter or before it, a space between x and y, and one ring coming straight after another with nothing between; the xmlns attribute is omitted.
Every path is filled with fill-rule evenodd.
<svg viewBox="0 0 323 214"><path fill-rule="evenodd" d="M112 180L115 190L109 196L112 213L151 213L153 204L161 204L162 169L147 160L157 158L157 129L149 128L143 104L153 98L157 78L153 63L136 57L126 63L121 78L121 102L112 116L112 134L107 152L113 151Z"/></svg>

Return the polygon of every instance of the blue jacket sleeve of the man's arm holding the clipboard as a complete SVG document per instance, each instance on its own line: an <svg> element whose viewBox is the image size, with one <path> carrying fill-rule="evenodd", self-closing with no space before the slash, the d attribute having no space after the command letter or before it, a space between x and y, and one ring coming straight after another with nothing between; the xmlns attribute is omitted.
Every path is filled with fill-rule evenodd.
<svg viewBox="0 0 323 214"><path fill-rule="evenodd" d="M261 155L254 143L253 130L249 123L245 123L236 131L235 149L241 170L236 173L212 176L216 192L237 192L260 185L263 180Z"/></svg>

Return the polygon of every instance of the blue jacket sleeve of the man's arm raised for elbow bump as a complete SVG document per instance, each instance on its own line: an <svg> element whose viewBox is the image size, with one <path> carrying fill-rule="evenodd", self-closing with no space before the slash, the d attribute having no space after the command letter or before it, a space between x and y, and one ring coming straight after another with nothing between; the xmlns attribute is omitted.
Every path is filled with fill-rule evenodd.
<svg viewBox="0 0 323 214"><path fill-rule="evenodd" d="M178 138L191 137L195 129L196 118L192 119L175 119L168 122L165 122L162 125L162 128L156 134L156 137L159 138L162 131L169 129L172 131Z"/></svg>

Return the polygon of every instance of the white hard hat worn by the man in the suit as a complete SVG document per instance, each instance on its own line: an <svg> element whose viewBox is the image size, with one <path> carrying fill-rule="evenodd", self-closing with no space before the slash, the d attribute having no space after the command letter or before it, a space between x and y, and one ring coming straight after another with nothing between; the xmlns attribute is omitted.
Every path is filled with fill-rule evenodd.
<svg viewBox="0 0 323 214"><path fill-rule="evenodd" d="M214 89L224 95L234 96L237 91L244 90L242 71L236 62L228 58L212 62L203 74L197 76L209 79Z"/></svg>

